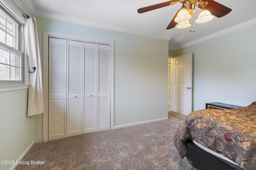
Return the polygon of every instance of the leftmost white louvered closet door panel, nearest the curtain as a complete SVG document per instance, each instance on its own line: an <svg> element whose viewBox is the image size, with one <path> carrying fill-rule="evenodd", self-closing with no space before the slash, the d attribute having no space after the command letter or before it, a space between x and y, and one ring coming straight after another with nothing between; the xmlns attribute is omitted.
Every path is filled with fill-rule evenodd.
<svg viewBox="0 0 256 170"><path fill-rule="evenodd" d="M49 140L66 137L66 40L49 38Z"/></svg>

